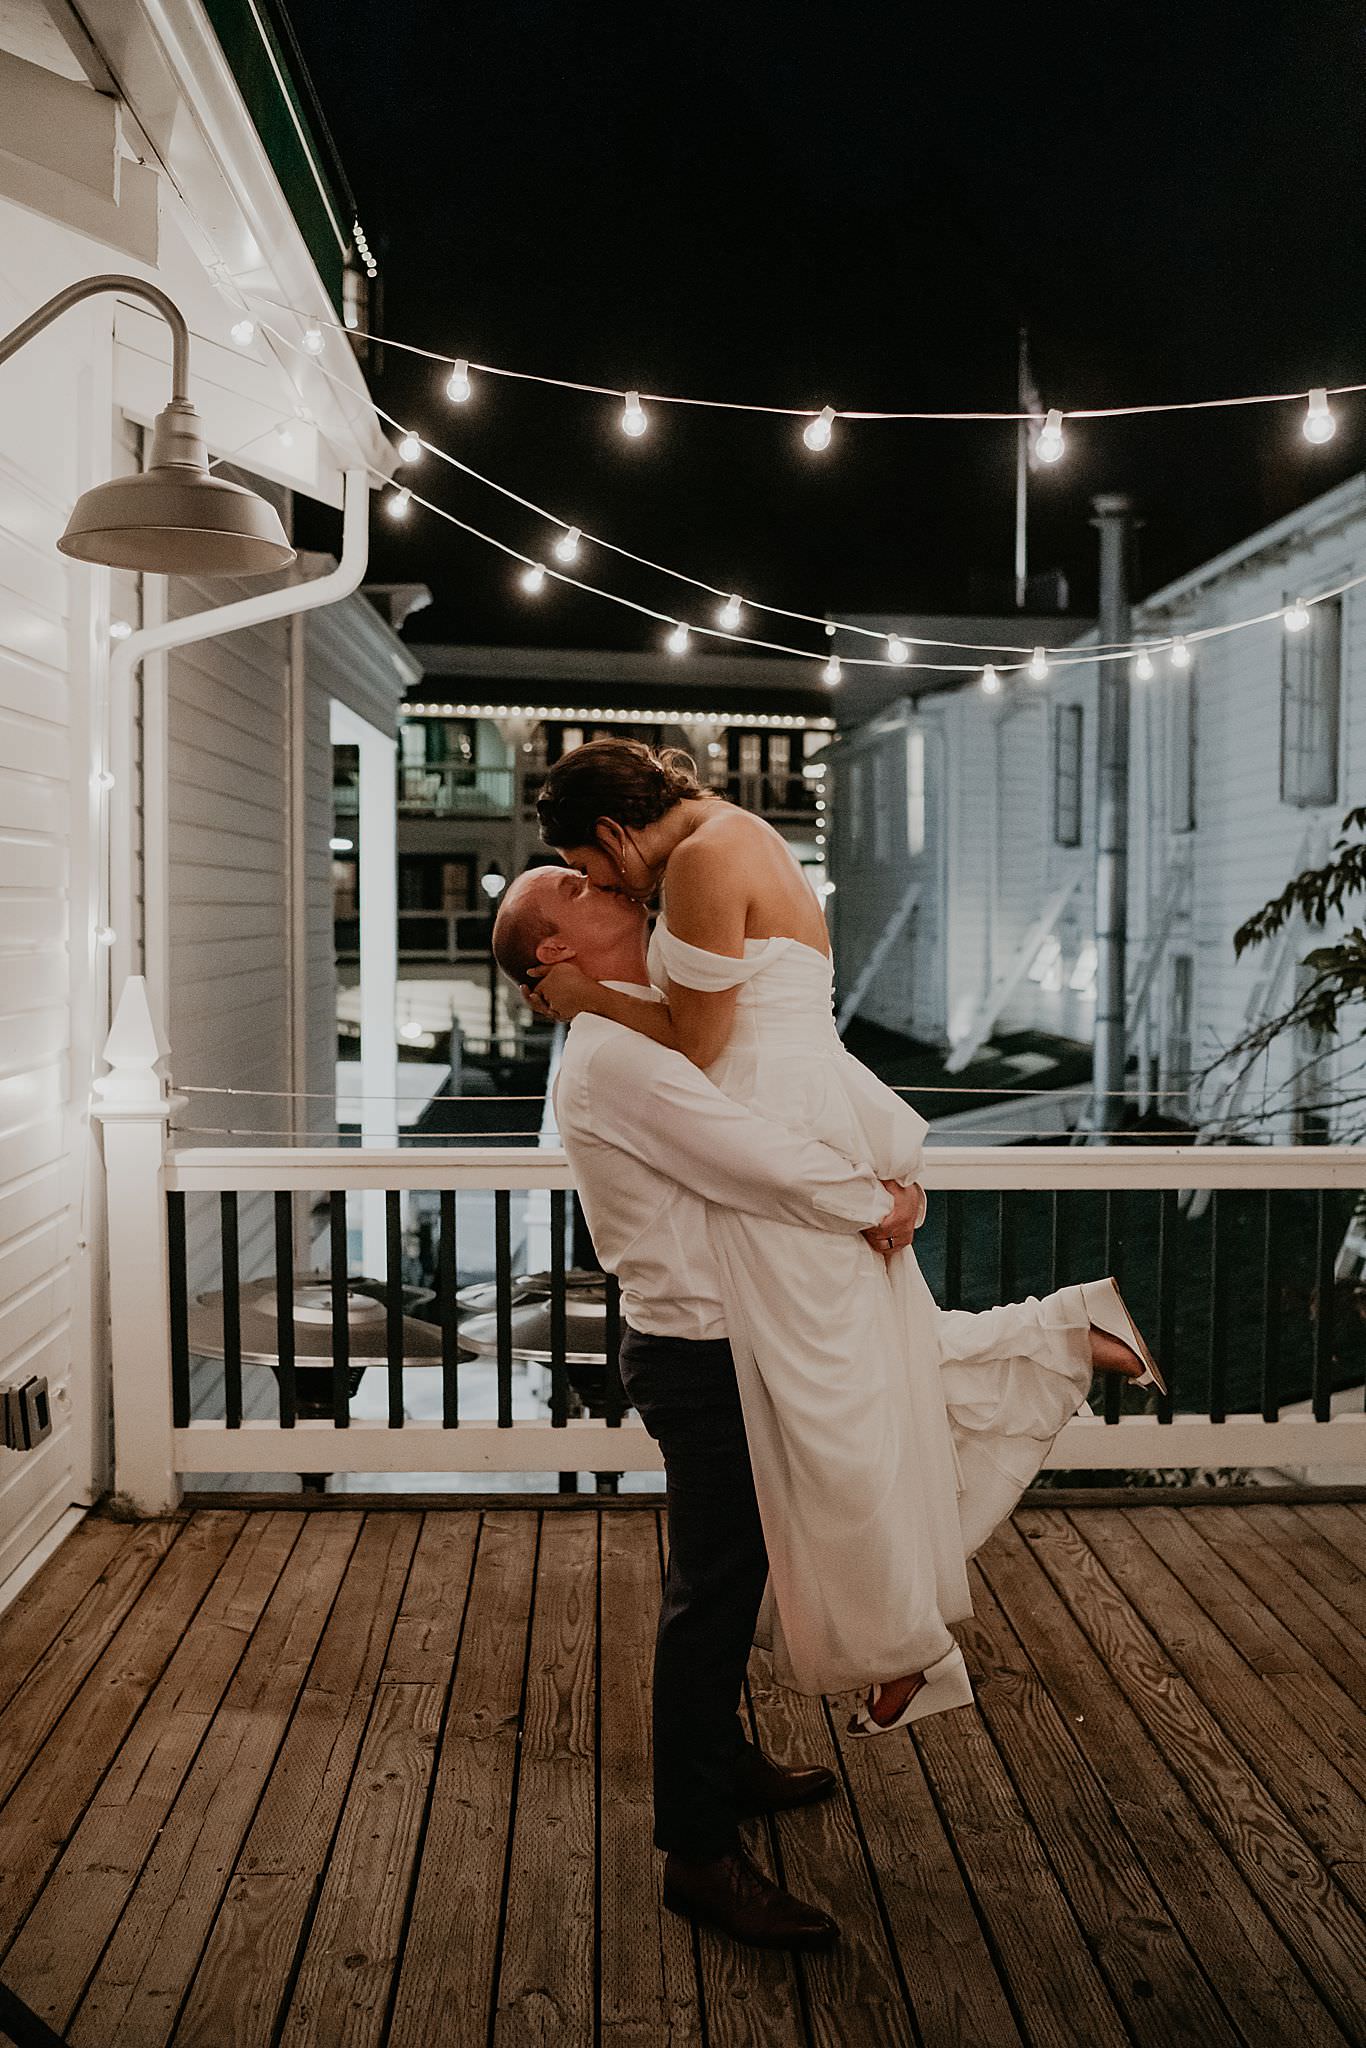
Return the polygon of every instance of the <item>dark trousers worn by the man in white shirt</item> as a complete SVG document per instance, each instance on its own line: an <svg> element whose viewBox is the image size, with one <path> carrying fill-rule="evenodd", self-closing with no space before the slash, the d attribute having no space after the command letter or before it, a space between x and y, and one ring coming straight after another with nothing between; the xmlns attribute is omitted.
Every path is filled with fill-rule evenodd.
<svg viewBox="0 0 1366 2048"><path fill-rule="evenodd" d="M664 1452L670 1569L653 1683L655 1847L709 1860L737 1843L737 1708L768 1577L725 1339L625 1329L621 1376Z"/></svg>

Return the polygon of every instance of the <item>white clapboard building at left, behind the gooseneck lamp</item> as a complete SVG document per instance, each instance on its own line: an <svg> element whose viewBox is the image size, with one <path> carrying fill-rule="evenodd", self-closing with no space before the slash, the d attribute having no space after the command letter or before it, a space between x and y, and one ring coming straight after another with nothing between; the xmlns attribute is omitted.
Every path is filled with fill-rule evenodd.
<svg viewBox="0 0 1366 2048"><path fill-rule="evenodd" d="M340 330L352 215L258 10L213 20L201 0L0 8L0 334L80 279L154 283L190 328L211 457L287 528L299 494L340 506L352 477L340 569L299 555L276 578L201 582L72 563L55 541L78 494L145 459L170 328L104 291L0 365L0 1382L45 1376L53 1419L33 1450L0 1450L0 1581L109 1483L90 1098L125 977L145 977L176 1085L270 1092L188 1094L186 1126L334 1128L334 743L356 745L369 786L362 979L393 1016L395 707L420 672L344 594L365 569L367 471L389 463ZM186 645L121 678L129 629L272 592L274 616L186 625ZM336 602L309 612L317 596ZM373 1036L371 1096L391 1038ZM244 1219L246 1264L256 1235ZM217 1247L190 1251L205 1284Z"/></svg>

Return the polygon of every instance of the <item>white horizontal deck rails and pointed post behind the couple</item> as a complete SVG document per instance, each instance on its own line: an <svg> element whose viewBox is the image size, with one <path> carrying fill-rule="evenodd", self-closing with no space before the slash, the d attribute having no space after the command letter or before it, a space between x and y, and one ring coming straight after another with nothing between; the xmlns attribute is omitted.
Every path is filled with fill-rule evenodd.
<svg viewBox="0 0 1366 2048"><path fill-rule="evenodd" d="M129 989L135 989L129 983ZM440 1421L352 1419L348 1427L299 1419L172 1417L172 1260L168 1194L393 1190L561 1190L573 1182L559 1151L213 1147L168 1151L170 1104L156 1073L156 1036L145 1004L121 1006L106 1049L113 1073L100 1083L109 1174L111 1323L117 1487L154 1511L180 1495L195 1473L578 1473L651 1470L657 1446L627 1415L600 1419ZM1354 1147L936 1147L924 1182L942 1190L1362 1190L1366 1151ZM1319 1276L1323 1274L1319 1262ZM1329 1268L1331 1272L1331 1262ZM1313 1288L1315 1276L1309 1276ZM1178 1389L1180 1393L1180 1389ZM1311 1413L1173 1413L1077 1417L1057 1438L1051 1468L1255 1466L1282 1470L1366 1468L1366 1415L1315 1419Z"/></svg>

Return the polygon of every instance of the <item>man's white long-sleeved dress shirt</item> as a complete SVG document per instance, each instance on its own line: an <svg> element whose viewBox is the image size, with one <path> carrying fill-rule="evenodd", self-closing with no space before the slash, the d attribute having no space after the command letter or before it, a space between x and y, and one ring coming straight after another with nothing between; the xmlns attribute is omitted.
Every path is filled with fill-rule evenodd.
<svg viewBox="0 0 1366 2048"><path fill-rule="evenodd" d="M606 987L664 1001L657 989ZM623 1315L651 1335L727 1333L709 1202L836 1233L891 1208L870 1167L756 1116L682 1053L588 1012L569 1026L555 1120Z"/></svg>

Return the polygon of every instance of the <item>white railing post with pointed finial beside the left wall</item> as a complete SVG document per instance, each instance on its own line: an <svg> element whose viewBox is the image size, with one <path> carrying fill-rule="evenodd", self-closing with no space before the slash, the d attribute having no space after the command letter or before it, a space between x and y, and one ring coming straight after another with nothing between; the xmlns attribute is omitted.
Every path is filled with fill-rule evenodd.
<svg viewBox="0 0 1366 2048"><path fill-rule="evenodd" d="M158 1067L164 1053L147 983L129 975L104 1040L111 1071L94 1083L92 1114L104 1128L115 1491L145 1516L166 1513L180 1501L164 1190L172 1104Z"/></svg>

